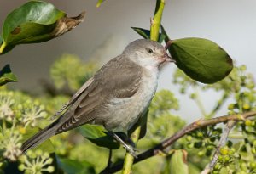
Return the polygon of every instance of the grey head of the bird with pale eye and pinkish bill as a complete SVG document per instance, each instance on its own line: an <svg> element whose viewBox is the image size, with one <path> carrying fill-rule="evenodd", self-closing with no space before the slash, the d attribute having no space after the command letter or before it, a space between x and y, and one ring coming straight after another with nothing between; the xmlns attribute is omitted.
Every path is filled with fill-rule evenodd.
<svg viewBox="0 0 256 174"><path fill-rule="evenodd" d="M165 62L174 62L159 42L147 39L131 42L123 53L126 58L143 67L159 67Z"/></svg>

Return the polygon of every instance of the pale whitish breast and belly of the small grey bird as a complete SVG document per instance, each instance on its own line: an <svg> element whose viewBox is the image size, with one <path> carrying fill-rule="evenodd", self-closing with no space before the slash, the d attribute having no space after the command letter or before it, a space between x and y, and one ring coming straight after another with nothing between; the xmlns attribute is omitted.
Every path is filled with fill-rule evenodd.
<svg viewBox="0 0 256 174"><path fill-rule="evenodd" d="M125 132L133 126L148 109L158 84L158 71L143 71L140 87L131 98L113 98L106 128ZM111 115L111 116L110 116Z"/></svg>

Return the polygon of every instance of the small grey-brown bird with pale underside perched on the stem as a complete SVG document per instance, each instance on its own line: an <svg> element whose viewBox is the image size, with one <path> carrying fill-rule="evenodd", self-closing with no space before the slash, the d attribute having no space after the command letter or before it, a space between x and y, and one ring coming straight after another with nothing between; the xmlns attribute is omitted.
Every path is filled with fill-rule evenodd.
<svg viewBox="0 0 256 174"><path fill-rule="evenodd" d="M125 132L148 109L158 84L160 65L174 62L158 42L139 39L86 81L59 110L56 121L22 144L26 150L46 139L84 124L104 126L132 155L134 149L114 132Z"/></svg>

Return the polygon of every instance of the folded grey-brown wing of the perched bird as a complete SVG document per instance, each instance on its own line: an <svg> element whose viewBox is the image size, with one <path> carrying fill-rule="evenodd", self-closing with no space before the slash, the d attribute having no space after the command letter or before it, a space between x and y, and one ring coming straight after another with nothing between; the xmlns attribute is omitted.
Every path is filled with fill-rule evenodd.
<svg viewBox="0 0 256 174"><path fill-rule="evenodd" d="M65 121L57 133L97 119L104 112L112 98L130 98L140 86L142 70L135 63L113 59L104 65L93 77L93 81L67 110Z"/></svg>

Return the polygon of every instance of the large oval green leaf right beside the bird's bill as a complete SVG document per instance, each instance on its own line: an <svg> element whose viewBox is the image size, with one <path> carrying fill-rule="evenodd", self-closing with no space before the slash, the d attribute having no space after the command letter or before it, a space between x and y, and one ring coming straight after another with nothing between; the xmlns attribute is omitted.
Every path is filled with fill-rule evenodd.
<svg viewBox="0 0 256 174"><path fill-rule="evenodd" d="M233 69L233 61L218 44L202 38L173 40L169 46L179 69L195 81L214 83Z"/></svg>

